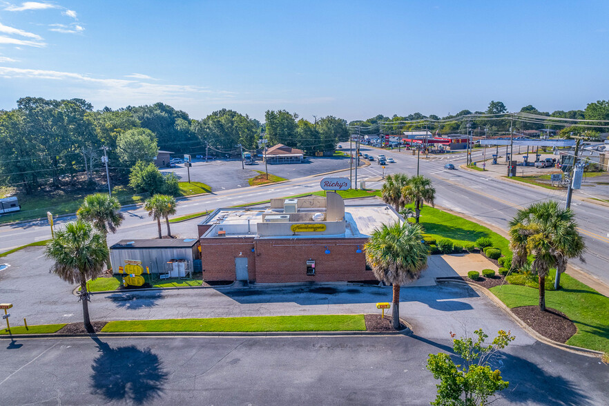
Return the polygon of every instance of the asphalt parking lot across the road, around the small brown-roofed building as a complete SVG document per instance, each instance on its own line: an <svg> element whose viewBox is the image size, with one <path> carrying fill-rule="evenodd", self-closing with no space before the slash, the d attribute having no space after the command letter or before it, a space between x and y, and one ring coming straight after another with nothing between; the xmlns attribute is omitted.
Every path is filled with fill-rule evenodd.
<svg viewBox="0 0 609 406"><path fill-rule="evenodd" d="M269 165L269 173L286 179L296 179L347 168L349 168L347 157L307 157L302 164ZM173 172L180 180L188 180L188 171L184 164L177 164L175 168L161 168L161 171L163 173ZM191 182L208 184L213 191L237 189L249 186L247 180L258 175L255 171L264 172L264 162L256 161L253 165L245 165L245 169L243 169L240 160L211 160L209 162L194 160L191 167Z"/></svg>

